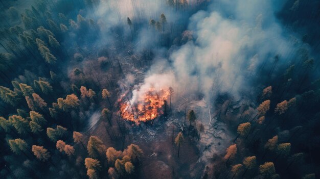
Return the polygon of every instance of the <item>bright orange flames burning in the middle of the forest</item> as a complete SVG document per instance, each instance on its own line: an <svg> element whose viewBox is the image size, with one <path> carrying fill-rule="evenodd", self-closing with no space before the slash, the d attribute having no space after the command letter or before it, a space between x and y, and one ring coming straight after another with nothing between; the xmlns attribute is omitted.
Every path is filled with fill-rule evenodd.
<svg viewBox="0 0 320 179"><path fill-rule="evenodd" d="M137 91L138 93L140 91ZM135 123L146 122L163 114L162 107L170 96L168 89L156 90L154 87L139 94L135 99L128 100L125 95L119 100L120 114Z"/></svg>

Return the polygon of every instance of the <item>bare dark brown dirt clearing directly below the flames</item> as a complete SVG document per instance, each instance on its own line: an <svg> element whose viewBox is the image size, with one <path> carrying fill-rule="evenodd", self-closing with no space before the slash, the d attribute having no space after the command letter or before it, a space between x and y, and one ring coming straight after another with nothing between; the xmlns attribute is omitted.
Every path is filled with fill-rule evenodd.
<svg viewBox="0 0 320 179"><path fill-rule="evenodd" d="M112 129L117 130L117 122L114 116L112 119ZM180 154L178 146L172 141L173 122L164 118L157 118L153 124L142 123L140 126L130 126L125 122L129 134L126 135L124 148L131 143L137 144L143 150L144 155L138 170L132 178L201 178L204 163L198 162L199 150L196 146L196 137L192 133L188 137L188 130L184 131L184 142L180 145ZM106 121L100 121L96 124L96 129L90 135L98 136L106 144L106 147L115 147L122 149L122 140L111 140L106 132L109 124ZM169 125L169 126L168 126ZM174 138L180 132L180 128L174 126Z"/></svg>

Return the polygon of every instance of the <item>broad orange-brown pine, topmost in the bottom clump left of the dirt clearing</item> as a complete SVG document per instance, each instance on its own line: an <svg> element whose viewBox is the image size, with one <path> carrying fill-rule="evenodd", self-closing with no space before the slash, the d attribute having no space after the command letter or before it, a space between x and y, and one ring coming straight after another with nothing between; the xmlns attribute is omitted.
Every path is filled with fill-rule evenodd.
<svg viewBox="0 0 320 179"><path fill-rule="evenodd" d="M97 136L90 136L87 150L90 157L101 158L101 154L105 153L105 146Z"/></svg>

